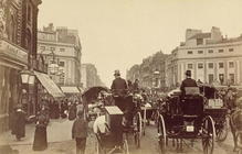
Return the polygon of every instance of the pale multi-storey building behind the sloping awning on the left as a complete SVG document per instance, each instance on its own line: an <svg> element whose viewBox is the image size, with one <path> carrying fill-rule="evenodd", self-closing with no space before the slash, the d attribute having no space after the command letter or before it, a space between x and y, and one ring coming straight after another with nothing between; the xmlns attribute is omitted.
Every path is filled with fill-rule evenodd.
<svg viewBox="0 0 242 154"><path fill-rule="evenodd" d="M53 24L38 31L38 54L42 55L48 74L59 86L81 85L82 46L77 30Z"/></svg>

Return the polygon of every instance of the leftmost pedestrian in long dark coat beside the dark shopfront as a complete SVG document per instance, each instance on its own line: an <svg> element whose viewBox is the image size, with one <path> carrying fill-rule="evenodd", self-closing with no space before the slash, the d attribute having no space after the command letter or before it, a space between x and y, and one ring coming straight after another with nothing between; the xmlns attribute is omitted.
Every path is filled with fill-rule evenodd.
<svg viewBox="0 0 242 154"><path fill-rule="evenodd" d="M18 141L25 136L25 112L20 105L18 105L13 114L12 134L15 135Z"/></svg>

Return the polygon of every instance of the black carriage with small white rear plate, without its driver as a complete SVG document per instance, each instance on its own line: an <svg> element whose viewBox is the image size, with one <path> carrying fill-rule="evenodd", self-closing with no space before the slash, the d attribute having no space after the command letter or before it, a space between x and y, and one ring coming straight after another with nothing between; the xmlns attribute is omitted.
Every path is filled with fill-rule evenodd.
<svg viewBox="0 0 242 154"><path fill-rule="evenodd" d="M182 99L181 99L182 98ZM201 139L204 154L212 154L215 129L213 119L204 114L204 98L198 87L186 88L186 95L170 94L160 109L158 119L158 139L160 152L166 153L169 139L177 150L182 150L186 140Z"/></svg>

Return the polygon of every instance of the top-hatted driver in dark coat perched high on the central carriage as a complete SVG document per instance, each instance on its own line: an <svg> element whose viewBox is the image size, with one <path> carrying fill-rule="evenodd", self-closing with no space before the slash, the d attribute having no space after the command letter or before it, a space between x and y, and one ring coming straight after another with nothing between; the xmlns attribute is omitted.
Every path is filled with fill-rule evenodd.
<svg viewBox="0 0 242 154"><path fill-rule="evenodd" d="M115 79L111 86L112 92L114 95L115 105L122 110L125 110L125 97L127 95L127 82L125 79L120 77L119 70L115 70L114 73Z"/></svg>

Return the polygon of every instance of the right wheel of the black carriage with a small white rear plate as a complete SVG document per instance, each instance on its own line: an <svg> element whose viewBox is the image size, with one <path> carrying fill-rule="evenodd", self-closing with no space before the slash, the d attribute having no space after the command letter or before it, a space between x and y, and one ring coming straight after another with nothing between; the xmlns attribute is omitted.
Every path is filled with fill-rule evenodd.
<svg viewBox="0 0 242 154"><path fill-rule="evenodd" d="M206 117L202 123L202 147L204 154L212 154L214 148L215 129L210 116Z"/></svg>

